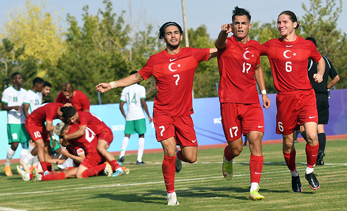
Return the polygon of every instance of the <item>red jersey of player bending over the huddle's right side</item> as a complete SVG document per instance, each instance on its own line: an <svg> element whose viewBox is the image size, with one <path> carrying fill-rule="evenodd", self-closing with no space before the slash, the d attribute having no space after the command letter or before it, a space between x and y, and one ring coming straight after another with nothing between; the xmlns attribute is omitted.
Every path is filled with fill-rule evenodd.
<svg viewBox="0 0 347 211"><path fill-rule="evenodd" d="M102 132L109 131L112 134L111 129L101 120L101 118L97 117L90 112L79 111L78 112L78 124L80 126L86 125L89 127L94 133L98 136Z"/></svg>

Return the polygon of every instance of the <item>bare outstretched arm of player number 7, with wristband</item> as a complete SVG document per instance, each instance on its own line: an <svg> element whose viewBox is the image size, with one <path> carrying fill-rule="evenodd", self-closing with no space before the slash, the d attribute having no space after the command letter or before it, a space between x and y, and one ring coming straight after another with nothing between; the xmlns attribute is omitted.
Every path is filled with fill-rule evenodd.
<svg viewBox="0 0 347 211"><path fill-rule="evenodd" d="M110 91L111 89L114 89L117 87L127 87L132 84L137 84L143 80L144 78L137 72L135 74L129 75L117 81L113 81L110 83L100 83L96 85L96 90L100 93L105 93Z"/></svg>

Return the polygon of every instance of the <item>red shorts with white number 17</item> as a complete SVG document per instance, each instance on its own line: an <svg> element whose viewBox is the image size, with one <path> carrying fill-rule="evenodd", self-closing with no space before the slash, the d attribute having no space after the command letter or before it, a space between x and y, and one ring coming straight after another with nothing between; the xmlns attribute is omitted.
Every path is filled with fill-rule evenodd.
<svg viewBox="0 0 347 211"><path fill-rule="evenodd" d="M227 141L235 141L251 131L264 133L264 116L259 103L221 103L221 117Z"/></svg>

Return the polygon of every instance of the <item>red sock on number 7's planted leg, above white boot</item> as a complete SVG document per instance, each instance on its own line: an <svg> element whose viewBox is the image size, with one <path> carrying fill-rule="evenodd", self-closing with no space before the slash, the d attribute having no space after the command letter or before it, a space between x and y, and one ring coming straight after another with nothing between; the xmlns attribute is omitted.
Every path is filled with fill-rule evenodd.
<svg viewBox="0 0 347 211"><path fill-rule="evenodd" d="M170 157L170 156L164 155L164 161L161 166L163 170L166 190L168 191L168 193L174 192L174 173L175 173L174 161L175 160L176 160L176 156Z"/></svg>

